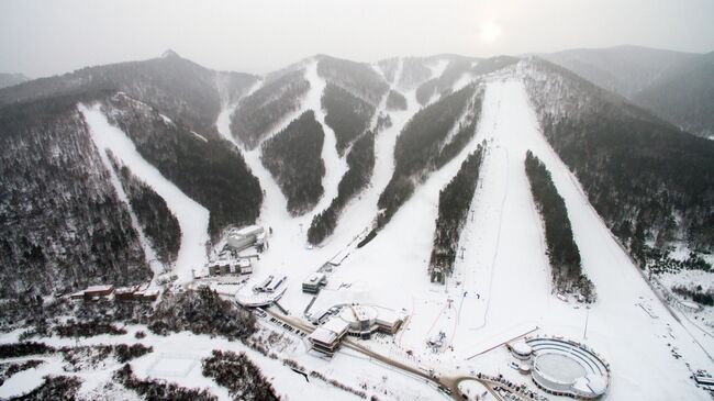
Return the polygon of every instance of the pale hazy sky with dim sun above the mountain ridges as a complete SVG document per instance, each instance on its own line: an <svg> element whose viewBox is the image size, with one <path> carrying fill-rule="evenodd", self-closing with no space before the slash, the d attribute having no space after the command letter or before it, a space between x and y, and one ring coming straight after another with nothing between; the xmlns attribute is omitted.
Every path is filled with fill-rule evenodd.
<svg viewBox="0 0 714 401"><path fill-rule="evenodd" d="M355 60L634 44L714 51L714 0L0 0L0 71L41 77L156 57L263 74Z"/></svg>

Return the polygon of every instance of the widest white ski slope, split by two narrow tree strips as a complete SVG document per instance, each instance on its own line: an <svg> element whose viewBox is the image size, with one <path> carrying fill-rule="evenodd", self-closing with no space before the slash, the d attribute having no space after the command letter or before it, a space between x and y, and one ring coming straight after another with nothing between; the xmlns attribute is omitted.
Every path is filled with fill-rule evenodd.
<svg viewBox="0 0 714 401"><path fill-rule="evenodd" d="M313 308L362 302L404 309L411 316L397 345L415 353L414 363L442 371L501 372L522 382L506 368L507 356L477 354L533 332L580 341L601 353L612 367L611 399L706 399L689 379L685 361L711 371L704 349L713 345L693 342L612 238L543 137L520 80L489 82L468 151L482 138L490 145L461 236L464 258L457 258L447 286L429 283L426 268L438 191L466 153L417 188L390 224L336 269ZM566 200L583 269L599 293L591 309L551 293L543 224L524 170L527 149L547 165ZM433 353L425 342L439 332L446 345ZM683 359L676 359L672 349Z"/></svg>

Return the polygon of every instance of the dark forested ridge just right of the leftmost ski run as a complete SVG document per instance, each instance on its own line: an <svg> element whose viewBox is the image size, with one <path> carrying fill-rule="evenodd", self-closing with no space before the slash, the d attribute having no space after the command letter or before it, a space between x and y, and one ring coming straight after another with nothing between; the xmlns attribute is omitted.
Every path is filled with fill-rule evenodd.
<svg viewBox="0 0 714 401"><path fill-rule="evenodd" d="M136 151L164 177L211 214L215 238L228 224L252 224L260 212L263 190L241 153L217 134L197 138L187 127L166 122L158 111L125 96L113 96L103 111Z"/></svg>

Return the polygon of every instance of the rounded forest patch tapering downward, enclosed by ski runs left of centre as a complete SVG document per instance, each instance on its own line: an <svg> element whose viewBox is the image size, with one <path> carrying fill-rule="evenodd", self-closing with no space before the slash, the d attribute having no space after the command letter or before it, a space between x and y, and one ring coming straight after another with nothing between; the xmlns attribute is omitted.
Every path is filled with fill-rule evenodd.
<svg viewBox="0 0 714 401"><path fill-rule="evenodd" d="M288 199L288 211L292 215L312 210L324 192L324 141L322 124L309 110L261 145L260 160Z"/></svg>

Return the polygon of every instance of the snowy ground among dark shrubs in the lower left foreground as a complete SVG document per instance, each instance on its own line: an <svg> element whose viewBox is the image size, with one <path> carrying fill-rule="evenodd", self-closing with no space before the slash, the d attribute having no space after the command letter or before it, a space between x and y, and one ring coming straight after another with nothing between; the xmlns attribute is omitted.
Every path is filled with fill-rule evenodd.
<svg viewBox="0 0 714 401"><path fill-rule="evenodd" d="M263 324L267 323L264 322ZM302 376L297 375L285 366L280 359L271 359L263 356L246 347L241 342L228 342L223 338L212 338L207 335L194 335L187 332L160 336L152 334L145 326L141 325L127 325L125 328L127 330L127 334L125 335L89 337L82 339L81 345L132 345L141 343L146 346L152 346L154 348L153 353L130 361L134 375L138 378L163 379L167 382L176 382L183 387L208 388L221 401L232 399L227 389L217 386L212 379L201 376L200 359L210 356L213 349L246 353L250 360L259 366L263 375L272 383L282 399L324 399L337 401L358 399L346 391L314 378L310 378L310 382L308 382ZM146 337L136 339L134 334L140 330L146 333ZM265 337L269 334L268 328L264 327L261 330L261 336ZM278 330L280 328L278 327ZM11 334L0 335L0 343L13 341L14 338ZM55 347L76 346L74 338L53 336L40 341ZM299 339L297 336L288 335L283 338L283 343L287 346L275 347L271 352L280 354L282 358L298 359L299 364L304 366L308 372L311 370L319 371L327 377L327 379L338 380L355 389L360 389L360 383L365 383L368 388L367 392L377 394L380 399L384 399L384 394L390 394L387 397L392 400L431 400L435 393L434 389L425 385L422 380L414 379L411 376L398 371L391 371L386 367L375 369L376 365L373 361L355 352L341 352L339 355L336 355L330 360L316 358L312 354L308 354L309 344L306 338ZM42 383L42 378L45 375L77 376L81 380L85 380L81 390L82 393L97 393L103 386L112 382L111 376L113 371L122 366L122 364L108 359L105 364L94 368L83 369L78 372L66 372L63 370L65 363L62 360L60 355L52 355L43 358L33 357L33 359L45 359L47 361L24 375L21 372L5 380L4 385L0 387L0 398L4 399L31 391ZM171 363L180 365L178 366L180 369L171 366ZM191 367L191 365L193 366ZM156 367L166 369L165 371L160 371L160 369L156 371ZM169 370L174 370L174 372ZM188 372L185 377L172 376L172 374L180 376L186 370ZM169 374L166 375L167 372ZM138 399L138 397L132 392L126 392L122 399L131 400Z"/></svg>

